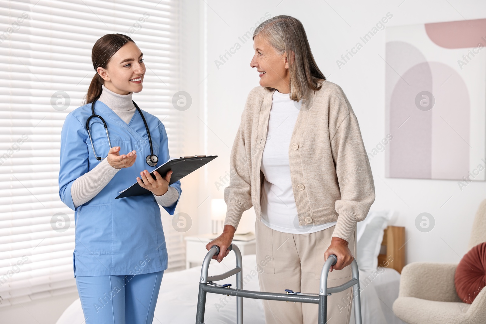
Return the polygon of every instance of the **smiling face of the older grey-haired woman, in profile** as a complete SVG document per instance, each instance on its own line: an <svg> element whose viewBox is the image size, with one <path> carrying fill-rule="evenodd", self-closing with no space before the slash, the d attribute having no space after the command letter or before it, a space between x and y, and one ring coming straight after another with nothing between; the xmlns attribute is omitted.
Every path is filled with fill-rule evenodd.
<svg viewBox="0 0 486 324"><path fill-rule="evenodd" d="M289 64L286 53L278 55L275 49L260 34L253 39L255 54L250 62L252 68L257 68L260 85L277 89L281 93L289 90Z"/></svg>

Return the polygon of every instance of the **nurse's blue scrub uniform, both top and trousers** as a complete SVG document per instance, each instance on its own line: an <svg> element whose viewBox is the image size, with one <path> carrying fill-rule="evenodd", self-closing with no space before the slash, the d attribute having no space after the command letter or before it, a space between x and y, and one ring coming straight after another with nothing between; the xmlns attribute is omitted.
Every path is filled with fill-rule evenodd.
<svg viewBox="0 0 486 324"><path fill-rule="evenodd" d="M169 160L165 126L142 110L150 129L156 167ZM59 196L74 210L75 248L73 271L86 324L152 323L160 281L167 269L167 249L154 195L145 194L115 199L119 192L137 182L140 171L153 171L145 157L150 144L143 120L137 111L124 122L103 102L96 102L95 114L104 118L111 147L120 154L137 151L133 166L122 168L90 201L74 207L71 186L75 179L96 167L100 161L91 148L86 120L91 103L68 114L61 131ZM100 119L90 121L90 132L98 156L109 151L108 139ZM95 188L103 179L93 183ZM171 185L181 195L180 181ZM174 215L179 199L164 209Z"/></svg>

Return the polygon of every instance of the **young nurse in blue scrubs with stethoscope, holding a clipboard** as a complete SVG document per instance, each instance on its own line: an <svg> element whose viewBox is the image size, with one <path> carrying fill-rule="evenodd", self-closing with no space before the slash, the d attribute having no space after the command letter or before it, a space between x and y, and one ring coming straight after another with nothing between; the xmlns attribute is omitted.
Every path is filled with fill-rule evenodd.
<svg viewBox="0 0 486 324"><path fill-rule="evenodd" d="M126 35L98 39L86 104L61 131L59 196L74 210L73 270L86 324L152 323L167 269L158 205L174 215L181 188L169 186L172 172L149 175L170 155L164 124L132 101L142 90L142 57ZM152 193L115 200L135 181Z"/></svg>

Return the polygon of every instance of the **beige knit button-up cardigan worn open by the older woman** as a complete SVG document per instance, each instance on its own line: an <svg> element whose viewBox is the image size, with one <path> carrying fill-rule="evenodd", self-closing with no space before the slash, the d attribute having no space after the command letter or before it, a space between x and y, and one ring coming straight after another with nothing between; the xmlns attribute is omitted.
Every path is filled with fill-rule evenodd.
<svg viewBox="0 0 486 324"><path fill-rule="evenodd" d="M375 186L343 89L329 81L321 85L304 97L295 122L289 145L292 189L299 225L337 221L332 236L349 242L375 201ZM257 86L248 94L230 154L225 225L237 228L252 205L260 221L260 164L274 91Z"/></svg>

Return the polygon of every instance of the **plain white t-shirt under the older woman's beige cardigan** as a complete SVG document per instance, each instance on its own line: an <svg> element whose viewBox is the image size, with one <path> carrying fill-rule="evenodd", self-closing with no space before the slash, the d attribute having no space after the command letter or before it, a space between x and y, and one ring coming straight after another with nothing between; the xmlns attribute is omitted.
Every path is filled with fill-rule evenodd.
<svg viewBox="0 0 486 324"><path fill-rule="evenodd" d="M260 190L261 222L292 234L314 233L336 224L299 226L290 179L289 146L300 106L301 102L291 100L290 94L274 92L260 167L265 176Z"/></svg>

